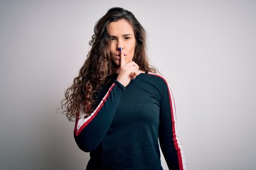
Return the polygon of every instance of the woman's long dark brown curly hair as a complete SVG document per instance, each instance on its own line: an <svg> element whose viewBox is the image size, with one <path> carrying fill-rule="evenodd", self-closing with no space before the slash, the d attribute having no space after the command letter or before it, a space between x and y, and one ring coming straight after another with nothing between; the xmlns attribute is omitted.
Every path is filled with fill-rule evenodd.
<svg viewBox="0 0 256 170"><path fill-rule="evenodd" d="M68 120L75 120L81 111L87 117L97 107L97 92L106 83L107 76L114 74L114 64L110 60L111 37L107 26L121 19L128 21L134 30L136 47L133 61L144 72L156 72L156 69L149 65L146 56L146 31L137 18L124 8L110 8L105 16L102 16L95 24L94 34L89 42L91 50L87 54L78 77L75 77L73 85L65 91L65 98L61 101L62 112Z"/></svg>

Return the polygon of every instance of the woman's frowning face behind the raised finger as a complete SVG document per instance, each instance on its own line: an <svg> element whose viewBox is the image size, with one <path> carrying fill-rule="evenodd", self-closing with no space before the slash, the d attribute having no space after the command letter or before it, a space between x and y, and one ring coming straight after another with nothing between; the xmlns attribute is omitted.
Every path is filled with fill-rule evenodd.
<svg viewBox="0 0 256 170"><path fill-rule="evenodd" d="M124 19L113 21L109 23L107 31L111 36L110 54L112 62L117 66L120 65L119 47L122 47L125 62L131 62L136 46L132 25Z"/></svg>

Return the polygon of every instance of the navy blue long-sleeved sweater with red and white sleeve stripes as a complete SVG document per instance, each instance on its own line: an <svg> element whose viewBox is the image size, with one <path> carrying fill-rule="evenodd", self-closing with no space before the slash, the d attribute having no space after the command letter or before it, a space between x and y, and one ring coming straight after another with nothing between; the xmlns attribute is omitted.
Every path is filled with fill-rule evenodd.
<svg viewBox="0 0 256 170"><path fill-rule="evenodd" d="M75 123L78 147L90 152L87 169L162 169L159 144L169 169L186 169L166 80L139 74L124 87L116 78L99 92L95 111Z"/></svg>

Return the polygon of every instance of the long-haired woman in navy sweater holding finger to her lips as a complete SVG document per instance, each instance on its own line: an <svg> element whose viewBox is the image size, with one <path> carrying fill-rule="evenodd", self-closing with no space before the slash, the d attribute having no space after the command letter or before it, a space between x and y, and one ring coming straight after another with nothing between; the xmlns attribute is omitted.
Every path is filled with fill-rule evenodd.
<svg viewBox="0 0 256 170"><path fill-rule="evenodd" d="M144 28L130 11L110 8L94 31L62 105L78 147L90 152L87 169L162 169L159 143L169 169L186 169L173 97L148 63Z"/></svg>

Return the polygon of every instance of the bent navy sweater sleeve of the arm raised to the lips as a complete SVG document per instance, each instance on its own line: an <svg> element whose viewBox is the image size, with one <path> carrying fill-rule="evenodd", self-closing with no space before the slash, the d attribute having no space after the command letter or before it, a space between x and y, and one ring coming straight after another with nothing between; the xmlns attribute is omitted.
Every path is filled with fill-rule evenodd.
<svg viewBox="0 0 256 170"><path fill-rule="evenodd" d="M95 111L87 118L80 112L75 121L74 137L78 147L85 152L91 152L102 142L110 128L114 113L122 94L124 86L114 81L107 94L102 98Z"/></svg>

